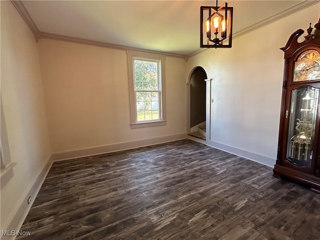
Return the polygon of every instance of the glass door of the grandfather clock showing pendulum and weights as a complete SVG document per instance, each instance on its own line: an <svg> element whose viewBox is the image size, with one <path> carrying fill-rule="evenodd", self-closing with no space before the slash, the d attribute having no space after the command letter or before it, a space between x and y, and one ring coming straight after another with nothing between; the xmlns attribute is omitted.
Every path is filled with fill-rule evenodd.
<svg viewBox="0 0 320 240"><path fill-rule="evenodd" d="M293 165L311 165L318 97L319 89L311 86L291 91L286 159Z"/></svg>

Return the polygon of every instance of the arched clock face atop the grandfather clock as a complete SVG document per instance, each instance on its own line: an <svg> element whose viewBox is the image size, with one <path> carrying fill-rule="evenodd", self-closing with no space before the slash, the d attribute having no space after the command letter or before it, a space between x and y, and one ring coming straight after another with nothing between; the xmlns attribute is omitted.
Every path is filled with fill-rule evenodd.
<svg viewBox="0 0 320 240"><path fill-rule="evenodd" d="M320 57L316 50L303 52L294 64L293 81L320 79Z"/></svg>

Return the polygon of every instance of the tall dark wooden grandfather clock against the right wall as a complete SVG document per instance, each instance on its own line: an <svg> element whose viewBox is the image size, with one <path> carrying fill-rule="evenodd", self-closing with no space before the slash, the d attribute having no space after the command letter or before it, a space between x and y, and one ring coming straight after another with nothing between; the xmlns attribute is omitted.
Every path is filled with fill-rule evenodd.
<svg viewBox="0 0 320 240"><path fill-rule="evenodd" d="M277 159L273 175L320 193L320 23L311 23L304 41L298 29L284 51Z"/></svg>

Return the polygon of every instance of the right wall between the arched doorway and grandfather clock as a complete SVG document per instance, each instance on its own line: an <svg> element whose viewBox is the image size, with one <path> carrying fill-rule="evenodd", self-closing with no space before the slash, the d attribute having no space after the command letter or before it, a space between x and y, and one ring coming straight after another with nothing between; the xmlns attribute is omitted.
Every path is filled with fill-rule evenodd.
<svg viewBox="0 0 320 240"><path fill-rule="evenodd" d="M275 163L284 64L279 48L298 28L306 33L319 16L320 3L233 39L232 48L211 48L188 59L187 74L198 65L213 78L209 145Z"/></svg>

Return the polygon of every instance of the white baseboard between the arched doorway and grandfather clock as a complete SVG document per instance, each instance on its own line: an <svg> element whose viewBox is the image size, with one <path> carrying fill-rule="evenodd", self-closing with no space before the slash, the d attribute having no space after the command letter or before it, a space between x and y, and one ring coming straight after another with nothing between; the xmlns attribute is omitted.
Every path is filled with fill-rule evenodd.
<svg viewBox="0 0 320 240"><path fill-rule="evenodd" d="M237 156L244 157L244 158L249 159L251 161L255 161L255 162L261 163L263 165L266 165L266 166L269 166L269 167L272 167L272 168L273 168L273 166L275 164L275 159L273 159L273 158L270 158L270 157L267 157L267 156L263 156L263 155L260 155L260 154L257 154L257 153L249 152L249 151L246 151L246 150L243 150L243 149L240 149L240 148L236 148L236 147L233 147L233 146L225 145L225 144L220 143L220 142L207 140L206 141L206 145L212 146L212 147L220 149L222 151L226 151L226 152L232 153L232 154L237 155Z"/></svg>

